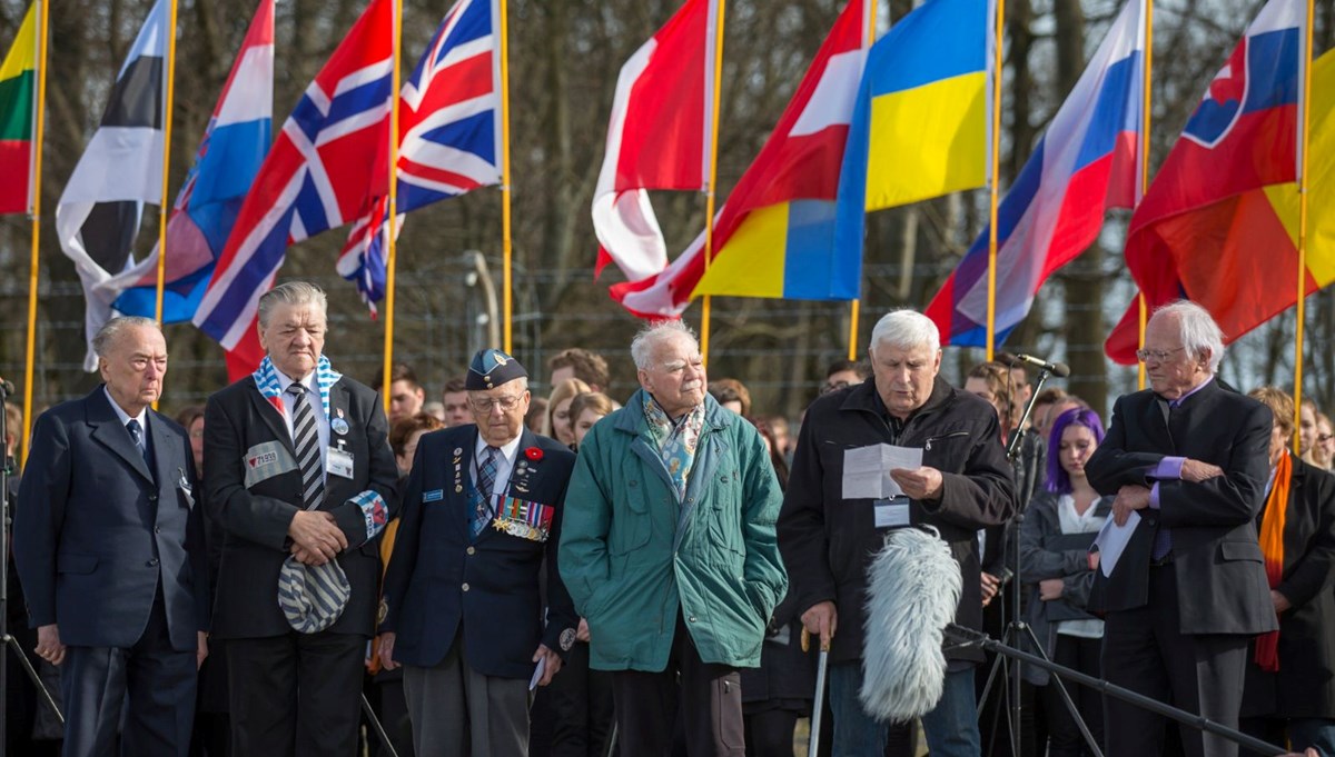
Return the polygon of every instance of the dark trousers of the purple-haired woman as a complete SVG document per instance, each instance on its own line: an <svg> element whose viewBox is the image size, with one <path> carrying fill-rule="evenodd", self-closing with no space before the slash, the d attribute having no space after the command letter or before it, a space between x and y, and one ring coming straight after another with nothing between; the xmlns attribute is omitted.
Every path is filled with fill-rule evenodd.
<svg viewBox="0 0 1335 757"><path fill-rule="evenodd" d="M1079 670L1095 678L1100 676L1100 656L1103 653L1101 638L1081 638L1079 636L1057 634L1056 649L1052 661L1057 665ZM1055 676L1053 676L1055 678ZM1103 749L1103 694L1089 686L1081 686L1073 681L1063 681L1071 701L1076 705L1093 742ZM1067 709L1061 690L1057 689L1056 680L1043 686L1043 706L1048 722L1048 757L1081 757L1093 754L1085 744L1084 734L1076 718Z"/></svg>

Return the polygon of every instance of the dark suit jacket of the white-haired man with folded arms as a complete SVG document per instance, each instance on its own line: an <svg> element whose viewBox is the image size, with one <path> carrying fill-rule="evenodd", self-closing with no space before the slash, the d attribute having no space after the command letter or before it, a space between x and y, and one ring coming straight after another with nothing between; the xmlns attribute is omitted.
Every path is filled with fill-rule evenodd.
<svg viewBox="0 0 1335 757"><path fill-rule="evenodd" d="M1223 476L1193 484L1159 481L1160 509L1140 510L1140 525L1111 577L1099 570L1089 606L1111 612L1148 601L1149 561L1160 525L1172 529L1172 569L1183 633L1262 633L1276 626L1256 538L1256 516L1270 477L1271 413L1214 380L1164 420L1152 390L1125 394L1108 436L1085 465L1100 494L1125 484L1152 486L1167 456L1212 462Z"/></svg>

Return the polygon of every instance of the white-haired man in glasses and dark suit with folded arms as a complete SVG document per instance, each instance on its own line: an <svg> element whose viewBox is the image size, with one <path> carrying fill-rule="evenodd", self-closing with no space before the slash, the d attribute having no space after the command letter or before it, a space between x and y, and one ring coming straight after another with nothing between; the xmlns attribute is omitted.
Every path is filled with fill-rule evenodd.
<svg viewBox="0 0 1335 757"><path fill-rule="evenodd" d="M1139 517L1111 576L1095 577L1091 606L1107 612L1104 673L1236 728L1248 640L1276 628L1255 525L1271 412L1216 380L1223 355L1200 305L1156 311L1137 353L1152 388L1117 400L1085 472L1099 493L1116 496L1117 525ZM1160 716L1113 697L1104 713L1109 757L1161 752ZM1238 753L1218 736L1180 732L1188 757Z"/></svg>

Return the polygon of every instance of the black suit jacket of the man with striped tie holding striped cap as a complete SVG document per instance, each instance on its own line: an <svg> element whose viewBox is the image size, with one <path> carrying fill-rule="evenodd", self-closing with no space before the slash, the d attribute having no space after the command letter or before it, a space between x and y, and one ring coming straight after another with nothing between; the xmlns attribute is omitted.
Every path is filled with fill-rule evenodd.
<svg viewBox="0 0 1335 757"><path fill-rule="evenodd" d="M348 498L374 490L384 497L392 518L398 509L398 468L376 392L339 378L330 386L330 409L348 425L343 434L331 428L330 444L344 441L354 465L351 478L326 476L324 502L319 506L334 514L347 537L348 548L338 561L352 589L343 614L328 630L370 636L380 578L379 541L366 538L362 509ZM275 462L255 465L260 456ZM295 457L283 416L259 393L254 378L247 376L208 398L206 500L226 532L214 608L214 634L220 638L260 638L292 630L278 606L278 573L291 549L287 526L302 509L302 472Z"/></svg>

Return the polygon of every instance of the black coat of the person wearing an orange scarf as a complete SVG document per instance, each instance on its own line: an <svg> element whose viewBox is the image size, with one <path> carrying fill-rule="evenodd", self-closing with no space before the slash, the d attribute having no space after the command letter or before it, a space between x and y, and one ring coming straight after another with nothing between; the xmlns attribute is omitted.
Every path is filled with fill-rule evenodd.
<svg viewBox="0 0 1335 757"><path fill-rule="evenodd" d="M1248 650L1242 714L1335 718L1335 476L1292 460L1275 590L1294 606L1279 616L1278 673L1262 672Z"/></svg>

